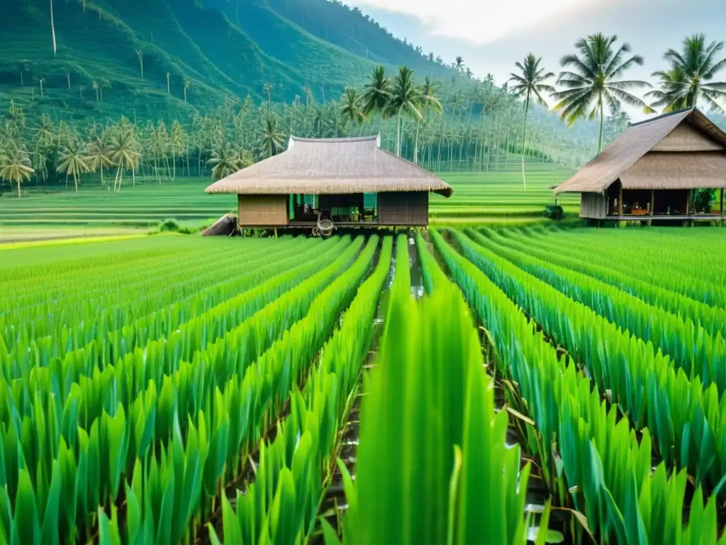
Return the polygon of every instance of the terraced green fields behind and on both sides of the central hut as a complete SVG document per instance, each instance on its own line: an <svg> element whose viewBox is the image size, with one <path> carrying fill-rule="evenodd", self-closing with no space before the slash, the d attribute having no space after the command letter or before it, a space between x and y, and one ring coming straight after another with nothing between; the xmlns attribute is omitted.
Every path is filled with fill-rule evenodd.
<svg viewBox="0 0 726 545"><path fill-rule="evenodd" d="M500 223L505 218L523 221L542 219L544 207L552 204L549 185L566 179L571 171L547 163L528 166L528 187L522 186L521 172L510 171L442 173L454 187L452 198L432 195L430 217L433 224L467 225ZM234 195L207 195L208 179L187 178L176 182L137 179L114 193L91 179L79 193L54 189L49 193L29 193L18 199L15 193L0 198L0 226L20 227L156 227L163 219L211 224L222 214L234 211ZM563 197L566 213L576 215L579 201Z"/></svg>

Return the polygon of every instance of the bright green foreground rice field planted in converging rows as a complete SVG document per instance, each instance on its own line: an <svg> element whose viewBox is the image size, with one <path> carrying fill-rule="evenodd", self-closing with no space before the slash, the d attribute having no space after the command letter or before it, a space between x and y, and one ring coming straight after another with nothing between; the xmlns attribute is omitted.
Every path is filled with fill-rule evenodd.
<svg viewBox="0 0 726 545"><path fill-rule="evenodd" d="M726 238L0 249L0 542L726 543Z"/></svg>

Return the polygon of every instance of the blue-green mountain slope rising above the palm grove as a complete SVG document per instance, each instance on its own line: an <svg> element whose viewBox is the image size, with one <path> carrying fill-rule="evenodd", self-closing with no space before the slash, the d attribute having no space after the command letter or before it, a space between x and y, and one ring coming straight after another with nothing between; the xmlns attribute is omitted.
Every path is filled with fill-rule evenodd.
<svg viewBox="0 0 726 545"><path fill-rule="evenodd" d="M4 4L0 101L55 118L184 116L248 94L266 98L265 84L277 101L303 87L319 100L338 97L380 62L446 70L359 13L351 29L360 41L338 30L326 41L309 23L341 9L326 0L52 0L55 54L48 0Z"/></svg>

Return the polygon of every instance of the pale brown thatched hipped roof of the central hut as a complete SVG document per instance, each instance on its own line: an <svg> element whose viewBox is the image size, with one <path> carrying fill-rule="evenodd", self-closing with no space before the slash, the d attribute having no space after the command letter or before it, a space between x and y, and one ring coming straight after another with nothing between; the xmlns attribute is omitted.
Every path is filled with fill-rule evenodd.
<svg viewBox="0 0 726 545"><path fill-rule="evenodd" d="M207 187L207 193L246 195L433 191L445 197L443 180L380 148L380 137L290 138L287 150Z"/></svg>

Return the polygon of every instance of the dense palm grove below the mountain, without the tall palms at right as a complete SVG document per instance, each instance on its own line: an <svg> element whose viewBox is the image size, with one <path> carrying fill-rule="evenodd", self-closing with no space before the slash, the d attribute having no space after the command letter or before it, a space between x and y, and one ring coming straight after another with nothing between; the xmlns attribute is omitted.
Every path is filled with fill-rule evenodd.
<svg viewBox="0 0 726 545"><path fill-rule="evenodd" d="M0 179L17 187L65 182L78 188L95 173L102 187L121 190L125 180L177 175L219 179L284 150L291 134L346 137L380 134L382 145L427 169L497 170L504 150L519 153L520 102L493 78L461 85L460 78L417 83L412 70L394 75L378 67L370 81L348 87L337 100L317 102L309 87L291 103L227 100L187 119L93 121L83 126L48 114L30 119L11 102L0 122ZM559 142L539 118L527 156L551 159ZM577 146L574 146L575 148ZM562 158L565 161L565 158ZM574 160L574 159L573 159Z"/></svg>

